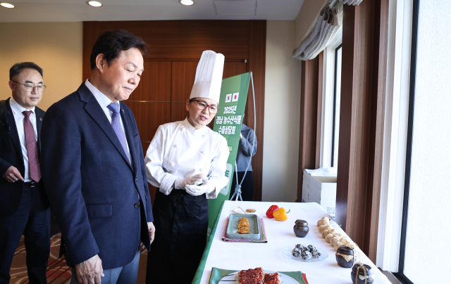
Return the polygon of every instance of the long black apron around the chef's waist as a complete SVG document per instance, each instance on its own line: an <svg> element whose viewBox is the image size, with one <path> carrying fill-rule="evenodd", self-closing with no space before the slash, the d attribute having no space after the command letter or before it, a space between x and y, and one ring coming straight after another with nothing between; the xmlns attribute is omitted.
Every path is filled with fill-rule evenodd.
<svg viewBox="0 0 451 284"><path fill-rule="evenodd" d="M206 245L209 207L205 194L181 189L154 201L155 240L147 257L147 284L191 284Z"/></svg>

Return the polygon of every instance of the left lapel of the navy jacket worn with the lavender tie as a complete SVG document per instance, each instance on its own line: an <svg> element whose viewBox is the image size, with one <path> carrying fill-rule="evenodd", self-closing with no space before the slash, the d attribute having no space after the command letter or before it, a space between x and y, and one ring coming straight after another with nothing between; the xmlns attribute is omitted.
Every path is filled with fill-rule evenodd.
<svg viewBox="0 0 451 284"><path fill-rule="evenodd" d="M113 143L113 146L116 148L116 150L118 150L125 162L127 162L128 166L131 168L128 157L127 155L125 155L125 151L122 148L121 141L119 141L116 132L114 132L113 127L111 127L111 123L109 122L108 118L106 118L104 110L101 109L96 98L94 98L91 91L89 91L89 89L87 89L87 86L85 86L85 83L83 83L80 88L78 88L78 93L80 93L80 99L82 101L85 101L86 103L85 110L87 111L87 113L92 117L92 120L94 120L94 122L99 125L100 129L104 131L106 137L109 138L111 143Z"/></svg>

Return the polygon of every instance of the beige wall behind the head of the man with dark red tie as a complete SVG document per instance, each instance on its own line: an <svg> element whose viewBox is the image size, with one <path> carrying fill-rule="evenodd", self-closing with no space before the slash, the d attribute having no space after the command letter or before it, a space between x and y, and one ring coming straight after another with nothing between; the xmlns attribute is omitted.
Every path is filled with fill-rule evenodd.
<svg viewBox="0 0 451 284"><path fill-rule="evenodd" d="M82 82L82 22L0 23L0 100L11 96L9 69L32 61L44 70L44 91L39 108L78 89Z"/></svg>

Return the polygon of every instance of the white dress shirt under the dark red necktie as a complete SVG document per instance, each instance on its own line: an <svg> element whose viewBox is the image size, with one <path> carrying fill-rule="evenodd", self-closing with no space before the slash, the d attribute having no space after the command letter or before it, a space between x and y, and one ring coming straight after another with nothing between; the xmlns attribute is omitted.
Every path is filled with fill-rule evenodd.
<svg viewBox="0 0 451 284"><path fill-rule="evenodd" d="M30 182L32 179L30 178L30 165L28 164L28 151L27 151L27 141L25 141L25 129L23 128L23 119L25 118L25 115L23 115L23 111L27 110L26 108L23 108L22 105L19 105L16 101L14 101L14 98L11 97L9 99L9 105L11 105L11 110L13 110L14 120L16 121L16 127L17 132L19 134L19 140L20 140L20 148L22 149L22 155L23 155L23 164L25 165L25 174L23 176L23 180L25 182ZM35 114L35 107L33 107L30 114L30 122L33 126L33 129L35 129L35 138L37 141L37 127L36 127L36 114ZM42 118L42 117L39 117Z"/></svg>

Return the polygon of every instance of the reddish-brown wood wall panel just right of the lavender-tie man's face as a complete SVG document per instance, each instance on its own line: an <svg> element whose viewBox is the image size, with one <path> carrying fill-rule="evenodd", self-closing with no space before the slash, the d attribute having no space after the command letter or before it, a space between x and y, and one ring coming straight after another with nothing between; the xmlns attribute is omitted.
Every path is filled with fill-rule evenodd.
<svg viewBox="0 0 451 284"><path fill-rule="evenodd" d="M171 61L144 61L140 84L129 101L171 101Z"/></svg>

